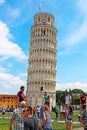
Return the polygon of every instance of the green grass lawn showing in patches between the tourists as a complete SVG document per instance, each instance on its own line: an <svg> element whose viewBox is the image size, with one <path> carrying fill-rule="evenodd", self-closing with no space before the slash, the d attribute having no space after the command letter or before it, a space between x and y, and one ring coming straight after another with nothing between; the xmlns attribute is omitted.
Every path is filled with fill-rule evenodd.
<svg viewBox="0 0 87 130"><path fill-rule="evenodd" d="M78 113L79 113L79 111L74 111L74 113L73 113L73 121L78 121L78 117L77 117ZM11 116L11 113L9 113L9 114ZM55 113L54 112L51 112L51 117L55 118ZM59 117L59 119L60 119L60 117ZM56 130L66 130L66 124L65 123L59 123L59 122L55 121L55 122L52 122L52 126L53 126L53 129L56 129ZM74 128L79 128L79 127L81 127L81 125L73 124L73 129ZM0 118L0 130L8 130L8 128L9 128L9 119Z"/></svg>

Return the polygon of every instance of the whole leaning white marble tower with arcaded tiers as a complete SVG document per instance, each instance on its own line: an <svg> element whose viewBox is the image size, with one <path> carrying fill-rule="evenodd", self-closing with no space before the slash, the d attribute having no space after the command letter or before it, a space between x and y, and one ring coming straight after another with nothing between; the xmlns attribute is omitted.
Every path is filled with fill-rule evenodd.
<svg viewBox="0 0 87 130"><path fill-rule="evenodd" d="M55 104L56 94L56 35L54 17L49 13L37 13L30 31L28 79L26 100L31 106L44 103L47 90L51 105Z"/></svg>

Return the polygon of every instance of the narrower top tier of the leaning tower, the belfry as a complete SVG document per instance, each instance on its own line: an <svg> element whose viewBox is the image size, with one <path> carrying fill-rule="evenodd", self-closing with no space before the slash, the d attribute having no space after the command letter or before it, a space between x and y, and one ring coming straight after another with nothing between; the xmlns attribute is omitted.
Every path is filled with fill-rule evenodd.
<svg viewBox="0 0 87 130"><path fill-rule="evenodd" d="M34 25L51 25L54 24L54 17L48 13L38 13L34 16Z"/></svg>

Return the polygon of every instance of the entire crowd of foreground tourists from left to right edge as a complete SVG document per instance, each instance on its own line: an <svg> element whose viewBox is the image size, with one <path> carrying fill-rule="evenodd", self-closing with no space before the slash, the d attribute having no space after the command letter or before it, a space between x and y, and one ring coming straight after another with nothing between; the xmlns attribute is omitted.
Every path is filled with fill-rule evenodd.
<svg viewBox="0 0 87 130"><path fill-rule="evenodd" d="M24 86L21 86L20 91L17 93L18 108L14 109L10 119L9 130L12 130L14 122L14 130L52 130L52 119L50 115L50 95L47 91L44 92L44 105L43 106L27 106L26 97L24 95ZM58 121L58 113L63 116L66 129L72 130L72 97L69 92L66 92L65 102L56 103L52 110L55 112ZM87 130L87 112L86 112L86 96L84 93L80 96L80 113L78 119L84 130Z"/></svg>

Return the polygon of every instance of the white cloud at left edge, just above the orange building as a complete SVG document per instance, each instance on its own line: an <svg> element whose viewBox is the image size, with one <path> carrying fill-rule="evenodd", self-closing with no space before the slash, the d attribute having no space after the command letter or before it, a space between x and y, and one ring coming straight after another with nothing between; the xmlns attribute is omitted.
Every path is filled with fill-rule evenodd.
<svg viewBox="0 0 87 130"><path fill-rule="evenodd" d="M0 73L0 93L16 94L25 81L11 74Z"/></svg>

